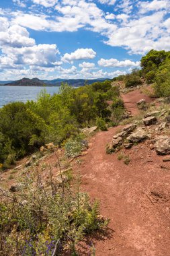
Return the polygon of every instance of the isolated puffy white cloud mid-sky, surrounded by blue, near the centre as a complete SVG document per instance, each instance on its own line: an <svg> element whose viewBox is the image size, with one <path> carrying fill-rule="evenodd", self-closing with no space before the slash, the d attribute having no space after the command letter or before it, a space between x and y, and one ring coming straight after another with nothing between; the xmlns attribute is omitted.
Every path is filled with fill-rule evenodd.
<svg viewBox="0 0 170 256"><path fill-rule="evenodd" d="M93 51L93 49L77 49L73 53L65 53L65 55L62 57L62 61L71 62L82 59L94 59L95 55L96 53Z"/></svg>

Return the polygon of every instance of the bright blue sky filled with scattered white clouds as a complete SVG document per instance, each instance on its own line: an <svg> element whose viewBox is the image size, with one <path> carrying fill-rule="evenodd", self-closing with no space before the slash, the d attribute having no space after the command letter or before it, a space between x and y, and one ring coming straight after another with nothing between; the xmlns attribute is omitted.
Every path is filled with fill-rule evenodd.
<svg viewBox="0 0 170 256"><path fill-rule="evenodd" d="M169 0L1 0L0 80L115 77L170 51Z"/></svg>

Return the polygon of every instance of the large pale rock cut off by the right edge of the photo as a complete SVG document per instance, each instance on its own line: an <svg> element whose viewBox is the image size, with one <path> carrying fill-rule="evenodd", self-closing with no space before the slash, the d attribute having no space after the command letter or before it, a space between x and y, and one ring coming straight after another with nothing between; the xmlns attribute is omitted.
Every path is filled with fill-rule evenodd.
<svg viewBox="0 0 170 256"><path fill-rule="evenodd" d="M157 137L157 141L155 142L155 148L157 154L170 154L170 137L166 135L161 135Z"/></svg>

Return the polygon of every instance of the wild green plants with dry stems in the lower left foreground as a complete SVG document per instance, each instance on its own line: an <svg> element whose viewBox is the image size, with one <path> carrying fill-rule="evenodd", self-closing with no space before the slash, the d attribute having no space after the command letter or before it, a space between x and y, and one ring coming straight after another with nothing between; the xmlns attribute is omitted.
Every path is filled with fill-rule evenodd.
<svg viewBox="0 0 170 256"><path fill-rule="evenodd" d="M73 253L85 234L108 224L99 218L99 203L91 205L79 185L72 190L64 183L61 188L54 177L49 187L42 182L40 176L32 175L19 183L19 193L1 192L1 255L48 256L55 245L56 255Z"/></svg>

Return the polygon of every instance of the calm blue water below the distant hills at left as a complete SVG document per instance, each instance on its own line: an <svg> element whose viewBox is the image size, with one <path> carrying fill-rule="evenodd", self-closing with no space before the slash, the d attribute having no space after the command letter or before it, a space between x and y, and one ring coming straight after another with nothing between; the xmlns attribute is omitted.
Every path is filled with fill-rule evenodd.
<svg viewBox="0 0 170 256"><path fill-rule="evenodd" d="M35 86L0 86L0 108L13 101L26 102L27 100L36 100L38 93L43 87ZM46 87L49 94L57 93L59 87Z"/></svg>

